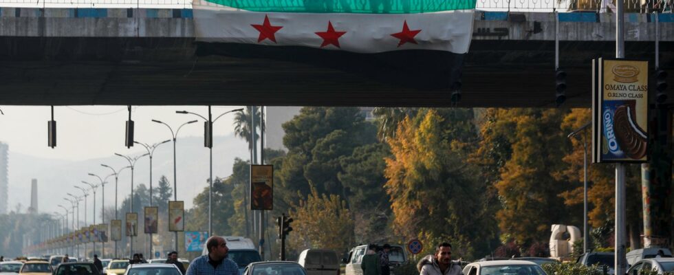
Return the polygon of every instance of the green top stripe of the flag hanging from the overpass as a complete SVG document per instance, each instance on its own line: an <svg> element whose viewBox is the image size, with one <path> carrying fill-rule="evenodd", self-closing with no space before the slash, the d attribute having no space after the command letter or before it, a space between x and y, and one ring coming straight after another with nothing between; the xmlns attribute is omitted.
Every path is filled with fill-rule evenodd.
<svg viewBox="0 0 674 275"><path fill-rule="evenodd" d="M250 12L408 14L470 10L477 0L206 0Z"/></svg>

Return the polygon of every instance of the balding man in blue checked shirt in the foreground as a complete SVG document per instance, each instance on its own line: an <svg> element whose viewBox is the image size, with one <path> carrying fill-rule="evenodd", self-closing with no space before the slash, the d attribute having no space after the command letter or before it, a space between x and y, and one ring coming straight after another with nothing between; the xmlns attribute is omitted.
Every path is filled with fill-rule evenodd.
<svg viewBox="0 0 674 275"><path fill-rule="evenodd" d="M239 275L239 266L227 258L229 248L221 236L211 236L206 241L208 254L195 258L186 275Z"/></svg>

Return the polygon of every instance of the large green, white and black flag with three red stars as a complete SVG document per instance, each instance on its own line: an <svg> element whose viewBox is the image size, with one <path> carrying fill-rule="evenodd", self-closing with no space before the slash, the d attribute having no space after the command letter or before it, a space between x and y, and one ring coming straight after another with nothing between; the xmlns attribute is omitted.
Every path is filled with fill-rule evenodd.
<svg viewBox="0 0 674 275"><path fill-rule="evenodd" d="M195 0L193 11L197 42L215 54L299 61L391 81L407 75L381 74L393 68L448 87L470 47L475 3Z"/></svg>

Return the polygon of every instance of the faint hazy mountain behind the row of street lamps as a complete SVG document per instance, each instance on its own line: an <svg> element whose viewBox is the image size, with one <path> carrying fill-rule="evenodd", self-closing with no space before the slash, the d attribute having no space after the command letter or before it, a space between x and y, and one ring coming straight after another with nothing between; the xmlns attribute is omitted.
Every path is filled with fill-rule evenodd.
<svg viewBox="0 0 674 275"><path fill-rule="evenodd" d="M213 177L228 177L231 175L235 157L245 160L250 159L248 145L234 135L214 137L213 143ZM85 184L81 181L89 181L91 184L100 182L96 177L87 175L88 173L97 174L104 179L112 173L109 168L102 167L100 164L107 164L116 169L129 165L126 160L113 155L112 152L109 157L74 162L23 155L12 152L11 148L10 144L8 209L15 210L17 204L21 203L22 212L25 212L30 206L31 179L38 180L39 212L63 212L63 209L57 205L61 204L70 208L69 202L63 199L67 197L67 192L78 196L83 195L83 192L74 188L74 186L84 187ZM122 153L142 155L146 151L140 146L134 146L128 152ZM177 140L176 153L177 199L185 201L186 208L191 208L193 198L208 186L208 148L204 147L203 137L184 137ZM157 186L157 182L162 175L165 175L173 186L173 144L168 142L157 148L152 162L153 187ZM134 168L134 185L145 184L149 186L149 177L149 157L143 157L138 160ZM114 203L115 178L109 177L107 181L109 184L105 185L105 206L109 207ZM118 184L118 198L121 201L122 197L128 196L131 191L130 169L122 171ZM101 192L101 188L98 188L96 192L97 209L100 209L101 206ZM93 205L91 196L87 198L87 202L89 211L91 211ZM80 204L80 211L83 211L82 204ZM87 216L91 217L91 214Z"/></svg>

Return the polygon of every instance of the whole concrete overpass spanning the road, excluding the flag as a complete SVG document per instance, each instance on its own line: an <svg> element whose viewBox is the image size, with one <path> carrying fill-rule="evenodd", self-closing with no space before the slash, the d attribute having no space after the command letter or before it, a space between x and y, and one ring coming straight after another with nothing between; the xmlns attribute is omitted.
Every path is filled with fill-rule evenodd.
<svg viewBox="0 0 674 275"><path fill-rule="evenodd" d="M674 76L674 14L626 14L627 58L652 64L655 17L660 67ZM450 106L448 89L263 54L212 55L195 43L193 20L180 7L1 7L0 105ZM477 11L457 106L554 107L555 22L552 12ZM563 12L558 23L564 107L589 107L591 58L615 56L614 15Z"/></svg>

